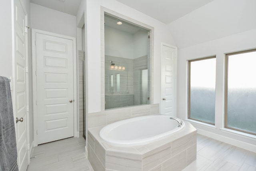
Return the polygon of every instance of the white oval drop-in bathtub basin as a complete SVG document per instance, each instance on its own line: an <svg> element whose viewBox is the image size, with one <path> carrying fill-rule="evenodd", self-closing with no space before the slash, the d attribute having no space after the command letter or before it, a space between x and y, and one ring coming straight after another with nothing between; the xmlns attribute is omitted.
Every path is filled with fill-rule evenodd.
<svg viewBox="0 0 256 171"><path fill-rule="evenodd" d="M185 127L167 115L133 117L106 125L100 130L100 137L115 146L144 145L170 135Z"/></svg>

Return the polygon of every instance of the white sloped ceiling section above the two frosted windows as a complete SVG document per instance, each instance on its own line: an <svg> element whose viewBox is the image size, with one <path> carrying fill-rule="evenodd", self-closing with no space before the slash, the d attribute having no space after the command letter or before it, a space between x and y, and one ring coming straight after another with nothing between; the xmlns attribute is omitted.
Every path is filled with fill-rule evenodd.
<svg viewBox="0 0 256 171"><path fill-rule="evenodd" d="M168 24L178 48L256 29L256 0L214 0Z"/></svg>

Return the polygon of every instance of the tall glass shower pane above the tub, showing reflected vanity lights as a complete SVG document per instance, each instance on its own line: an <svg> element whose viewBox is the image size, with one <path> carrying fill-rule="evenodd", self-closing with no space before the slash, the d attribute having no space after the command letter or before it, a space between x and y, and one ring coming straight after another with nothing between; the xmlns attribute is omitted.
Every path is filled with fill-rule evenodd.
<svg viewBox="0 0 256 171"><path fill-rule="evenodd" d="M150 30L104 15L105 109L150 103Z"/></svg>

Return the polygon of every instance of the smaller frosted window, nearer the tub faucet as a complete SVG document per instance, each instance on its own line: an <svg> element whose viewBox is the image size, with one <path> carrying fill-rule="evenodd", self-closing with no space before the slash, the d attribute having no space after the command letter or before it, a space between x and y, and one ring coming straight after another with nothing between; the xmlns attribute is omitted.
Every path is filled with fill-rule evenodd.
<svg viewBox="0 0 256 171"><path fill-rule="evenodd" d="M188 62L188 119L215 124L216 57Z"/></svg>

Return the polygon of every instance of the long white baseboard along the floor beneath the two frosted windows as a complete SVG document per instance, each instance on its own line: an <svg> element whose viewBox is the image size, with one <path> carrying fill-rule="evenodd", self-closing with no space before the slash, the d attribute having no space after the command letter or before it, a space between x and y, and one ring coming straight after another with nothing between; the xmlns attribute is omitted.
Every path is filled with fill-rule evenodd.
<svg viewBox="0 0 256 171"><path fill-rule="evenodd" d="M239 141L239 140L236 140L236 139L232 139L232 138L229 138L229 137L225 137L223 135L218 135L216 133L212 133L210 131L205 131L203 129L199 129L199 128L196 128L196 129L197 129L198 134L201 134L201 135L204 135L206 137L210 137L210 138L216 139L218 141L222 141L224 143L234 145L236 147L240 147L242 149L246 149L246 150L249 150L249 151L252 151L252 152L256 153L256 145L246 143L246 142L243 142L243 141Z"/></svg>

